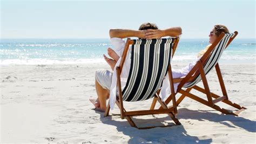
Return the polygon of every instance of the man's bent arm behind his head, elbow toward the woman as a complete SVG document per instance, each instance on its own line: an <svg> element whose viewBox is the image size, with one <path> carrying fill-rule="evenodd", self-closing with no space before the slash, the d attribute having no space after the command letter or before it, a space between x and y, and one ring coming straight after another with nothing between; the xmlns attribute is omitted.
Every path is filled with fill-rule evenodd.
<svg viewBox="0 0 256 144"><path fill-rule="evenodd" d="M172 27L165 30L149 29L146 32L145 38L153 39L153 38L161 38L165 36L177 37L181 35L181 33L182 33L182 29L180 27Z"/></svg>

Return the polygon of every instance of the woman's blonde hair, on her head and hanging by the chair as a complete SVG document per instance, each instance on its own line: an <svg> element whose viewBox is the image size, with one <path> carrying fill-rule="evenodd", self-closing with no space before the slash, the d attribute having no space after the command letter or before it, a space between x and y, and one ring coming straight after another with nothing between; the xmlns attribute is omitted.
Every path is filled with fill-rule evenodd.
<svg viewBox="0 0 256 144"><path fill-rule="evenodd" d="M217 37L219 37L219 35L220 35L221 32L230 33L230 31L228 31L228 29L227 29L227 26L221 25L221 24L216 24L216 25L214 25L213 32L215 33L215 35L216 35ZM212 44L206 46L206 48L205 48L204 50L200 51L200 52L198 53L197 57L203 56L203 54L205 54L205 52L209 49L209 47L210 47L211 45L212 45Z"/></svg>

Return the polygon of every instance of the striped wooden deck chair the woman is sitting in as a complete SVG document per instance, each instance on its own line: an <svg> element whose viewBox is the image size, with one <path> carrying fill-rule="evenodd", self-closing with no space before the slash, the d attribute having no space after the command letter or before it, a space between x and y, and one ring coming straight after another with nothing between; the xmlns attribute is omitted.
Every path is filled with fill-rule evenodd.
<svg viewBox="0 0 256 144"><path fill-rule="evenodd" d="M205 52L205 54L200 58L200 60L197 62L197 64L192 68L192 70L187 74L185 78L178 78L178 79L173 79L171 81L171 85L174 83L180 83L177 87L177 92L172 93L172 97L169 96L165 100L166 104L169 104L169 102L173 99L173 95L176 95L177 93L180 93L181 96L177 100L177 105L174 107L177 107L181 101L185 97L189 97L193 100L196 100L206 106L212 107L216 109L217 111L220 111L221 113L224 114L233 114L238 116L238 114L241 111L244 111L246 108L241 107L238 104L235 104L228 100L227 96L227 91L224 85L223 77L220 72L220 67L218 64L218 61L221 57L221 54L223 51L226 49L226 47L232 42L232 40L238 35L238 32L235 31L234 33L231 34L225 34L221 33L221 35L215 40L215 42L209 47L209 49ZM217 94L214 94L210 91L210 87L208 86L208 81L206 79L206 74L210 72L213 67L215 67L217 76L219 79L221 91L223 93L222 96L219 96ZM197 86L199 81L203 81L204 88ZM185 88L183 90L182 88ZM207 100L202 99L198 97L197 95L192 94L190 91L191 90L197 90L201 93L206 94ZM234 108L237 108L238 110L235 112L232 112L230 110L220 108L218 105L216 105L217 102L224 102L227 105L230 105ZM170 106L172 107L172 106ZM163 109L163 107L160 107L159 109Z"/></svg>

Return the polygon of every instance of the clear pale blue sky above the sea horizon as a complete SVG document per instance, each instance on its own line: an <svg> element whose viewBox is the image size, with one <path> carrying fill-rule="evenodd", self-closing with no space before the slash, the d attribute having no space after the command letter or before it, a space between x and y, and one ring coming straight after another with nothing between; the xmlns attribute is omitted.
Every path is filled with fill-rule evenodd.
<svg viewBox="0 0 256 144"><path fill-rule="evenodd" d="M108 38L111 28L181 26L208 38L214 24L255 38L255 1L1 1L1 38Z"/></svg>

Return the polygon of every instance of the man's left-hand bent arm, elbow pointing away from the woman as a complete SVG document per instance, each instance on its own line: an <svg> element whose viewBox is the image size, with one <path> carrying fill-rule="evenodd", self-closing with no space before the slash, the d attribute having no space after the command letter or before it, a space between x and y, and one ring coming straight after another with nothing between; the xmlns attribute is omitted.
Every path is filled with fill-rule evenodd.
<svg viewBox="0 0 256 144"><path fill-rule="evenodd" d="M125 29L110 29L109 36L110 38L127 38L127 37L138 37L138 38L145 38L146 30L139 31L139 30L125 30Z"/></svg>

